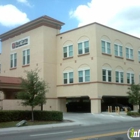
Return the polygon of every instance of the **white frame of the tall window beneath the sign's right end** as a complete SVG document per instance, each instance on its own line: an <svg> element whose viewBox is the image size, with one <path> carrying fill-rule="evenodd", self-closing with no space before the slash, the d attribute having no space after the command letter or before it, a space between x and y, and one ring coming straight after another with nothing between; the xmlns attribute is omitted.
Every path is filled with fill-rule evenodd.
<svg viewBox="0 0 140 140"><path fill-rule="evenodd" d="M28 55L28 51L29 51L29 55ZM24 56L24 52L25 52L25 56ZM30 65L30 49L29 48L22 50L22 65L23 66Z"/></svg>

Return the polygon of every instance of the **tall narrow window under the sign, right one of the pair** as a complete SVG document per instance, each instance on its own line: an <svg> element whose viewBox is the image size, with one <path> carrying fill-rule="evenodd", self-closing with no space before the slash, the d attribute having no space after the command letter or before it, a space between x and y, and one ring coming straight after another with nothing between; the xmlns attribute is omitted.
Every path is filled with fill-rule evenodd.
<svg viewBox="0 0 140 140"><path fill-rule="evenodd" d="M30 50L23 51L23 65L30 64Z"/></svg>

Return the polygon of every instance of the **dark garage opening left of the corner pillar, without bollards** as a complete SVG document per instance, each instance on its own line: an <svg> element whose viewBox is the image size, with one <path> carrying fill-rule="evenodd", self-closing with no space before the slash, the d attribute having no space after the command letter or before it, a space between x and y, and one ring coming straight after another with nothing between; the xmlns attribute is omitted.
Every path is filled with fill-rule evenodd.
<svg viewBox="0 0 140 140"><path fill-rule="evenodd" d="M88 96L67 98L66 102L67 112L90 113L91 112L90 106L91 103Z"/></svg>

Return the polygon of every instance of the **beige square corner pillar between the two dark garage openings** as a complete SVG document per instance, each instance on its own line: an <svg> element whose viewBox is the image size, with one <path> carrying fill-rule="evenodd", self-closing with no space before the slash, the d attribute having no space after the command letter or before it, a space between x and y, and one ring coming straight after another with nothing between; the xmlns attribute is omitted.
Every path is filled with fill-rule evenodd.
<svg viewBox="0 0 140 140"><path fill-rule="evenodd" d="M92 98L91 100L91 113L101 113L101 99Z"/></svg>

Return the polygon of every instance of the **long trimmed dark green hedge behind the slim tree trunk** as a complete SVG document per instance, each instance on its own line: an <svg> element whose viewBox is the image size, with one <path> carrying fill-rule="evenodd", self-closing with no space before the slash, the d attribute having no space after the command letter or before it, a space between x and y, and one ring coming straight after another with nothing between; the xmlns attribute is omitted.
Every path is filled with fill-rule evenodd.
<svg viewBox="0 0 140 140"><path fill-rule="evenodd" d="M0 111L0 122L31 120L31 111ZM34 111L34 120L62 121L63 113L60 111Z"/></svg>

